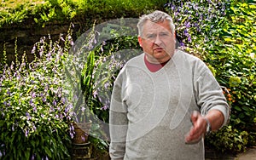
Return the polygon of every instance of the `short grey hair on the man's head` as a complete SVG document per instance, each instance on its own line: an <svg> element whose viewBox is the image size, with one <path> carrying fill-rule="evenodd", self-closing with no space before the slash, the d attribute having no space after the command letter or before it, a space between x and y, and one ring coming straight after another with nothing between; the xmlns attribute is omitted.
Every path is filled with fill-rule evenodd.
<svg viewBox="0 0 256 160"><path fill-rule="evenodd" d="M163 22L164 20L169 20L172 33L174 33L174 31L175 31L175 26L173 24L172 17L169 14L166 14L165 12L156 10L151 14L144 14L143 16L140 17L140 20L137 23L139 36L142 36L143 26L144 26L145 22L148 20L150 20L151 22L154 22L154 23Z"/></svg>

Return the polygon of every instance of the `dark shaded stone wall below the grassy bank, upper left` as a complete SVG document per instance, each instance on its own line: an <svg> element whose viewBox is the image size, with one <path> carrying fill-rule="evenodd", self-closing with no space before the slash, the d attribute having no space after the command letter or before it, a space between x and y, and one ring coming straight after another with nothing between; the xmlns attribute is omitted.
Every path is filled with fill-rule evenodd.
<svg viewBox="0 0 256 160"><path fill-rule="evenodd" d="M60 34L67 35L67 31L70 27L70 22L63 23L50 23L43 26L30 23L29 20L13 26L6 26L0 29L0 61L3 59L3 50L6 51L7 61L10 64L11 61L15 60L15 49L21 59L24 52L26 52L27 61L31 62L34 60L34 55L31 54L32 48L35 43L40 41L41 37L49 37L55 41L60 37ZM84 22L74 22L74 32L86 31L86 25ZM88 28L88 27L87 27ZM73 36L75 38L75 35ZM17 47L15 48L15 41ZM5 49L4 49L5 46Z"/></svg>

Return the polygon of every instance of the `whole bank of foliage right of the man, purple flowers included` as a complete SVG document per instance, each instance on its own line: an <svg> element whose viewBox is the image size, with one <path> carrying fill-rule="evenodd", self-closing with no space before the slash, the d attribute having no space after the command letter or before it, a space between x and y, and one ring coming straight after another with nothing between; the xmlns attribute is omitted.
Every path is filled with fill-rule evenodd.
<svg viewBox="0 0 256 160"><path fill-rule="evenodd" d="M231 106L230 124L207 138L222 151L244 151L255 145L256 71L255 3L234 1L176 1L167 11L177 26L183 49L204 60ZM177 16L178 15L178 16Z"/></svg>

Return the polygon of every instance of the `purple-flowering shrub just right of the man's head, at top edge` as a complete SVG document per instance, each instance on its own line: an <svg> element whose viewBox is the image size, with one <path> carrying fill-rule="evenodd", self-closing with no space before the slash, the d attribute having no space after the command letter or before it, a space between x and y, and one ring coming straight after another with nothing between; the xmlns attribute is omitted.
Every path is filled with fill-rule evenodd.
<svg viewBox="0 0 256 160"><path fill-rule="evenodd" d="M203 54L204 49L201 49L201 44L218 39L228 2L228 0L179 0L166 3L166 10L173 17L176 37L181 47L187 51L193 49L191 53L197 51L197 54Z"/></svg>

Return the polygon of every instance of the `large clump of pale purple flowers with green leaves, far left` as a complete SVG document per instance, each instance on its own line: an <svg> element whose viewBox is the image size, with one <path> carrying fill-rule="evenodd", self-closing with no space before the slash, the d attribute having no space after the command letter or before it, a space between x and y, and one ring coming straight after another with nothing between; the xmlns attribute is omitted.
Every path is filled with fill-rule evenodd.
<svg viewBox="0 0 256 160"><path fill-rule="evenodd" d="M42 38L31 64L16 61L0 72L0 158L70 157L69 105L61 88L61 40ZM68 45L66 46L68 47Z"/></svg>

